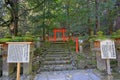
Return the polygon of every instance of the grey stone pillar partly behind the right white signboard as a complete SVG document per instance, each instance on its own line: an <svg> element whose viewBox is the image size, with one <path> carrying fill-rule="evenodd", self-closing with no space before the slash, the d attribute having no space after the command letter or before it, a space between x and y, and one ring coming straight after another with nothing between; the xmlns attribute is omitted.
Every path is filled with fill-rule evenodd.
<svg viewBox="0 0 120 80"><path fill-rule="evenodd" d="M100 51L96 51L97 68L101 71L106 70L106 60L101 59Z"/></svg>

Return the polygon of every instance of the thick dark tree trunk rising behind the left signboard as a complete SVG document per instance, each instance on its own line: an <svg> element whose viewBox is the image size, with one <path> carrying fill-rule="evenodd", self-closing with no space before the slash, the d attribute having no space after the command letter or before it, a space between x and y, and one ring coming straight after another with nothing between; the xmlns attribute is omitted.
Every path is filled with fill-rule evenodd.
<svg viewBox="0 0 120 80"><path fill-rule="evenodd" d="M18 1L19 0L5 0L7 8L11 13L11 24L9 26L12 25L12 34L14 36L17 36L18 33Z"/></svg>

